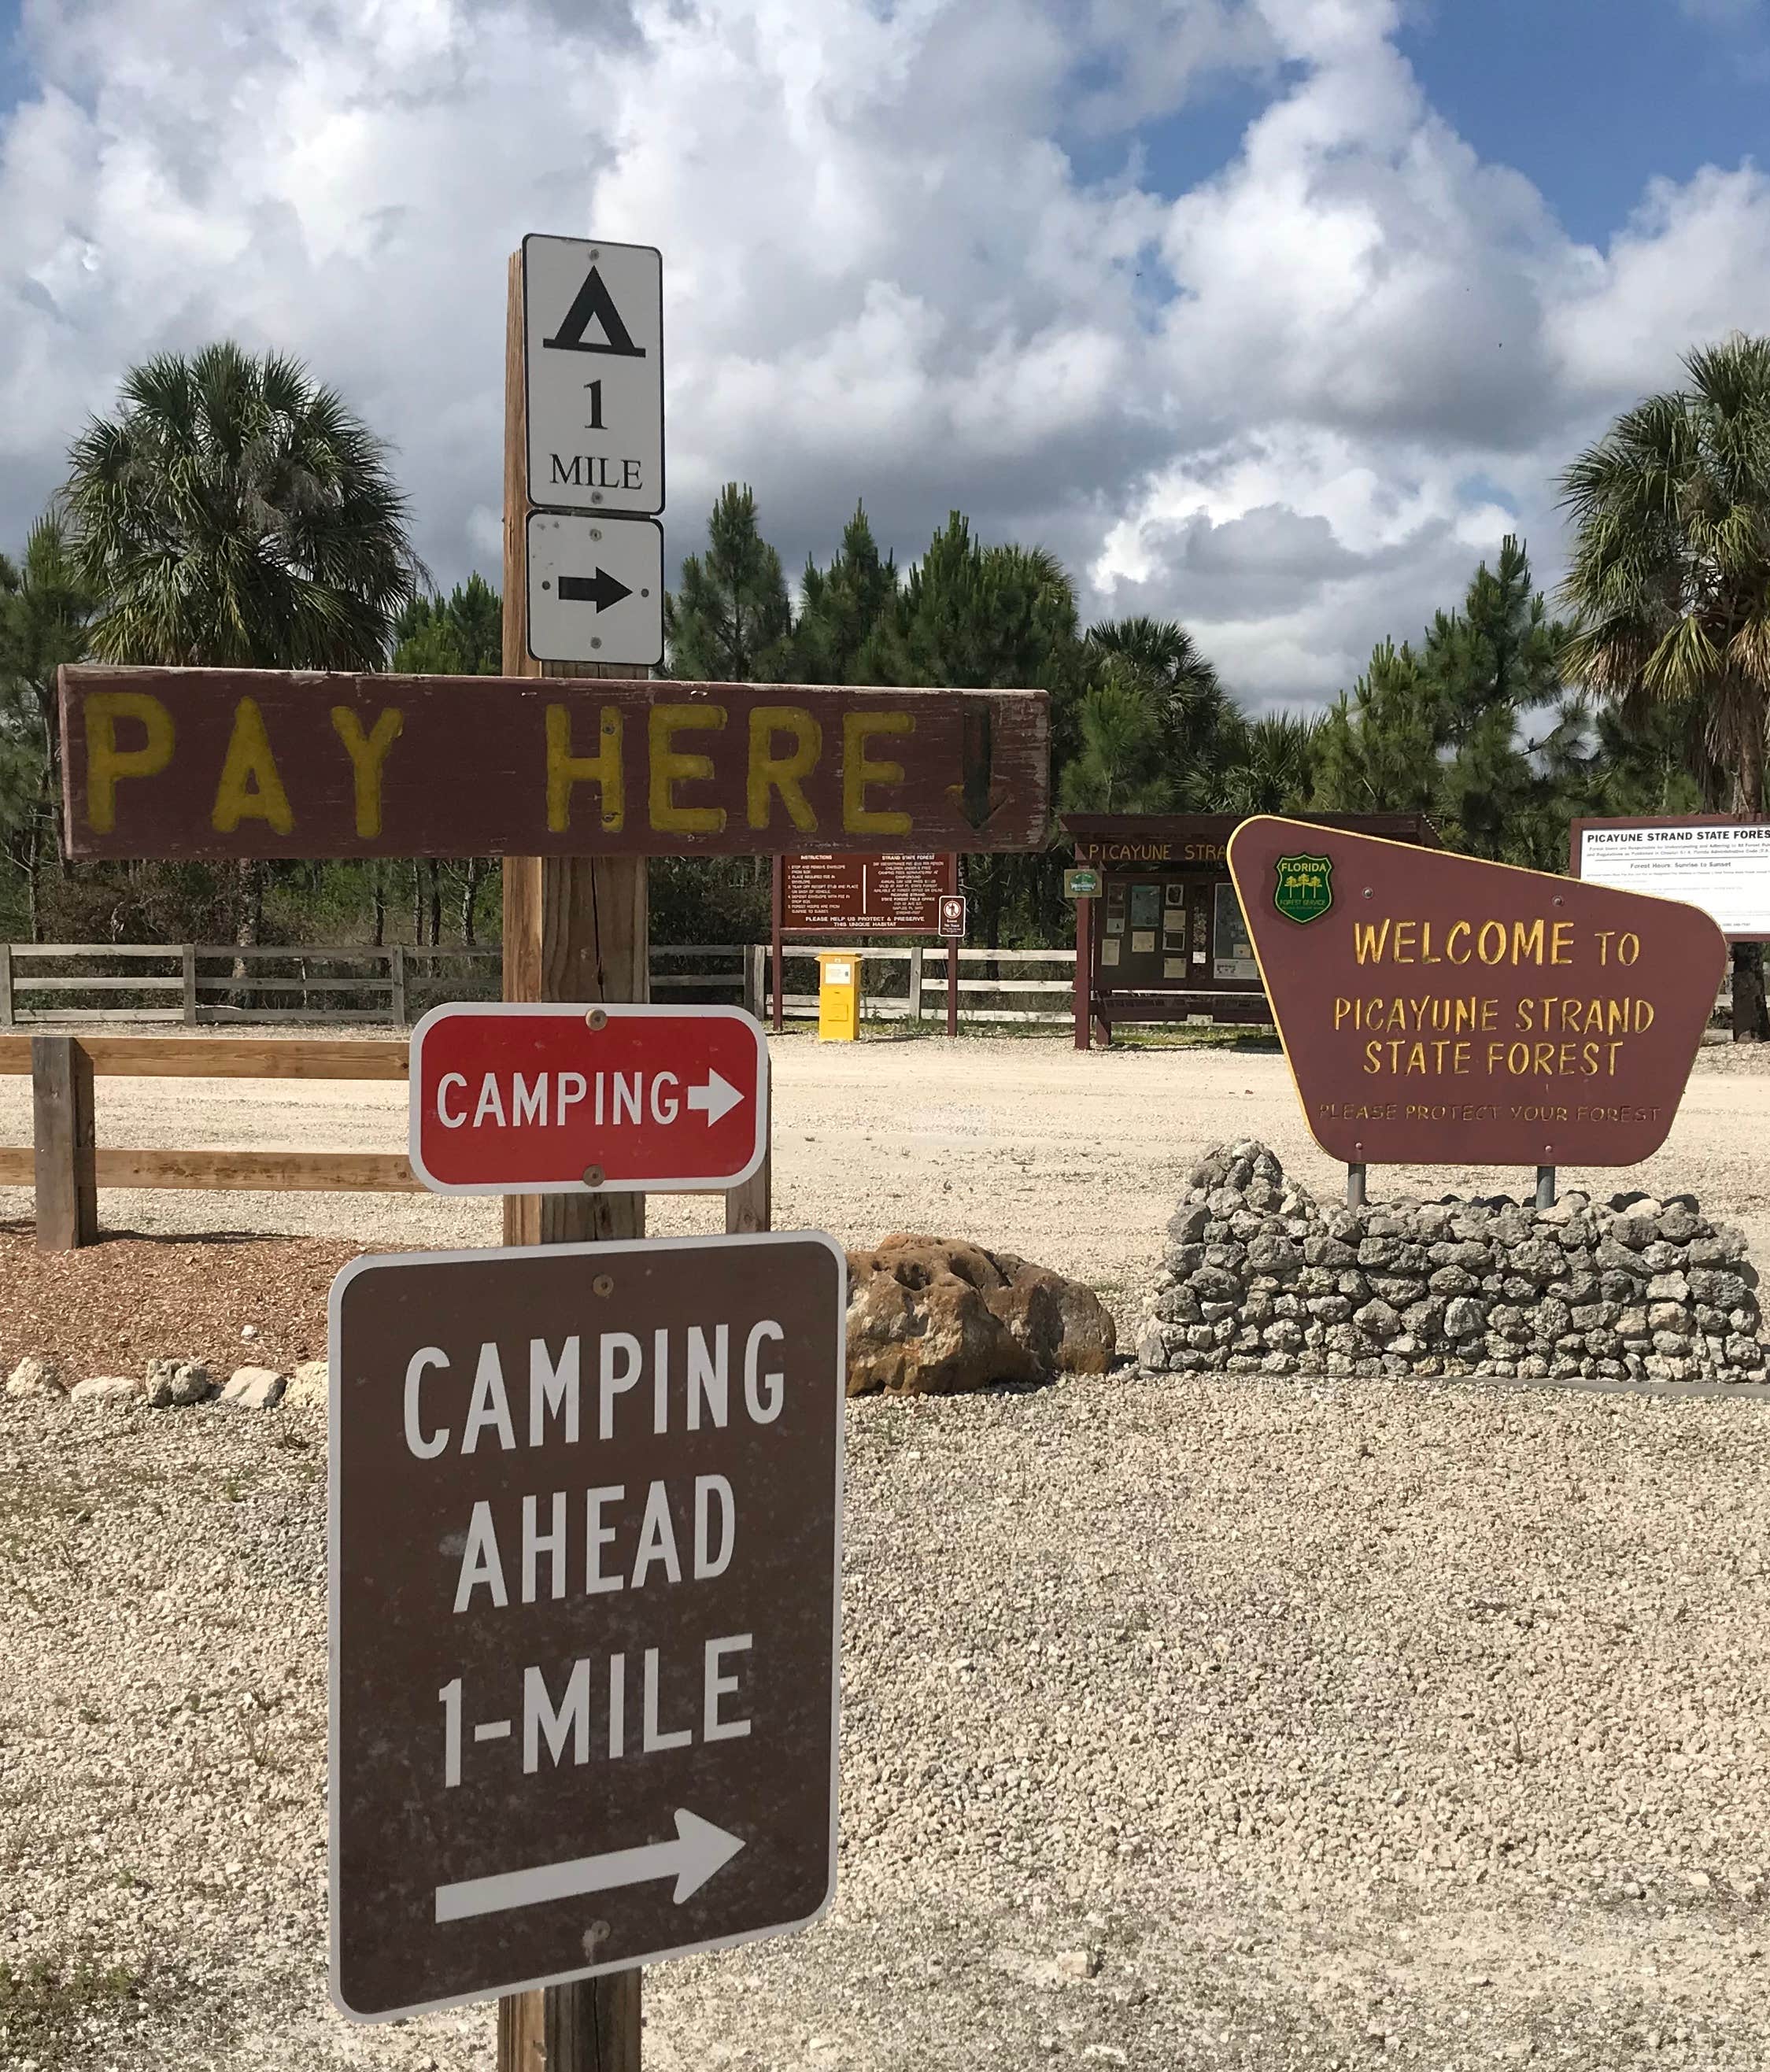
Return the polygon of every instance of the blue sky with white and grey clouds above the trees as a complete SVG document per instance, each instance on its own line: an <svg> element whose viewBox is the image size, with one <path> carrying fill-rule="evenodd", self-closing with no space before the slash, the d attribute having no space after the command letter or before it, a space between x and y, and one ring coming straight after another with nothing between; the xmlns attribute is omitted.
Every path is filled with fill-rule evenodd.
<svg viewBox="0 0 1770 2072"><path fill-rule="evenodd" d="M672 557L958 506L1256 704L1770 329L1770 0L0 0L0 545L153 350L298 352L497 572L504 259L665 259Z"/></svg>

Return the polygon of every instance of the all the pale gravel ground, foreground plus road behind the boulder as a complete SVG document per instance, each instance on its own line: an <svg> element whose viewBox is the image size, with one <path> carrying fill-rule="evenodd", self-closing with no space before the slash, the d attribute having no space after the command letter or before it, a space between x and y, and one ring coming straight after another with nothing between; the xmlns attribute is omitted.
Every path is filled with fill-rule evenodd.
<svg viewBox="0 0 1770 2072"><path fill-rule="evenodd" d="M379 1088L99 1098L112 1142L398 1142ZM1606 1181L1691 1187L1762 1256L1766 1111L1762 1071L1704 1069L1671 1150ZM1333 1183L1271 1057L788 1040L777 1220L945 1229L1130 1312L1229 1135ZM106 1212L493 1235L404 1198ZM485 2008L325 2004L323 1502L311 1407L0 1399L6 2072L489 2072ZM1766 1527L1755 1401L1107 1376L858 1403L837 1906L655 1968L647 2064L1758 2072Z"/></svg>

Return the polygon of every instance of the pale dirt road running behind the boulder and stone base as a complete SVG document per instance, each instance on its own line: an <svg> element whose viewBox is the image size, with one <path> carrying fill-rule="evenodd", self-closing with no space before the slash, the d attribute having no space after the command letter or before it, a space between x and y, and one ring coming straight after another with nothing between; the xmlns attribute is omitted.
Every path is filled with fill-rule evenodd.
<svg viewBox="0 0 1770 2072"><path fill-rule="evenodd" d="M1210 1144L1262 1138L1322 1196L1339 1169L1304 1131L1283 1057L1219 1051L1078 1055L1063 1042L773 1040L775 1222L864 1245L895 1229L1020 1251L1103 1289L1152 1266L1179 1175ZM29 1084L0 1080L0 1142L27 1144ZM373 1082L99 1080L102 1144L398 1150L404 1092ZM1706 1053L1666 1148L1563 1185L1693 1191L1770 1256L1770 1071ZM1374 1191L1519 1191L1528 1173L1393 1169ZM110 1229L298 1231L363 1243L475 1245L495 1204L425 1196L106 1193ZM0 1216L29 1196L0 1189ZM655 1196L657 1235L717 1229L709 1200Z"/></svg>

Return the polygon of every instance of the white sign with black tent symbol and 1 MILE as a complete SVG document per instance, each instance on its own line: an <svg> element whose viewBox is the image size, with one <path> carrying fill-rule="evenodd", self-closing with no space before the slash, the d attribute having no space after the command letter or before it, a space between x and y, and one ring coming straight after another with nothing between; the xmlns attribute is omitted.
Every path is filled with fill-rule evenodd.
<svg viewBox="0 0 1770 2072"><path fill-rule="evenodd" d="M651 244L526 236L522 367L529 501L645 518L661 512L659 253Z"/></svg>

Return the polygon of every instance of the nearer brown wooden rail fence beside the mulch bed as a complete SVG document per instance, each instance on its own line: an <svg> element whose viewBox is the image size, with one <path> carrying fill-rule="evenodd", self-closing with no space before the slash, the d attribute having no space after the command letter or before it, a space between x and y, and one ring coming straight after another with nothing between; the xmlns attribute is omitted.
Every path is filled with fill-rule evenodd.
<svg viewBox="0 0 1770 2072"><path fill-rule="evenodd" d="M423 1193L404 1152L141 1150L97 1142L93 1077L406 1080L394 1036L0 1036L0 1075L31 1075L25 1150L0 1148L0 1187L35 1187L37 1249L97 1237L99 1187ZM769 1164L725 1196L727 1231L769 1229Z"/></svg>

